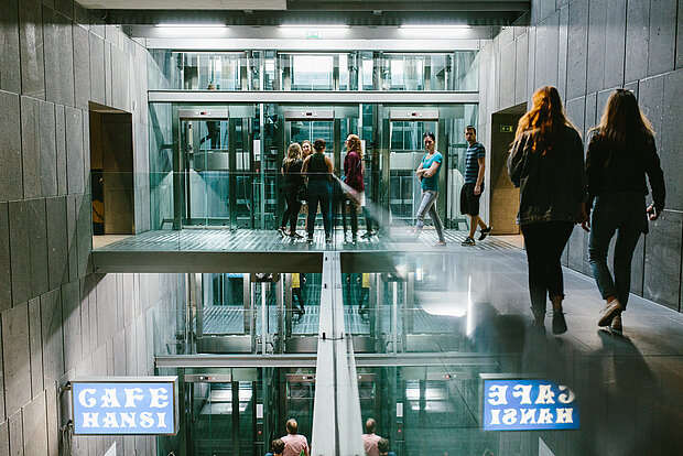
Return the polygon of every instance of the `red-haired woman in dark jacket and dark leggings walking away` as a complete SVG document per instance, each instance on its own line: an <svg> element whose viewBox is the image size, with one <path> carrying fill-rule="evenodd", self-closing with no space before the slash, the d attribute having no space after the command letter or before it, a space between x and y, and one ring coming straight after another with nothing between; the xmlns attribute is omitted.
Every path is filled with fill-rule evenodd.
<svg viewBox="0 0 683 456"><path fill-rule="evenodd" d="M583 151L557 89L538 89L531 109L519 120L508 174L520 188L518 224L527 250L531 308L536 326L543 327L545 296L550 296L553 334L567 329L560 258L574 225L587 220Z"/></svg>

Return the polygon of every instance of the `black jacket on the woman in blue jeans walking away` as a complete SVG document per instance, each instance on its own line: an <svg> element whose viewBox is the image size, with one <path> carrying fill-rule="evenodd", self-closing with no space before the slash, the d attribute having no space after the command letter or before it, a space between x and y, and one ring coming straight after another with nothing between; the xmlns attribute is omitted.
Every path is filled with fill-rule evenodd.
<svg viewBox="0 0 683 456"><path fill-rule="evenodd" d="M599 132L590 138L586 155L587 210L593 206L593 199L603 193L647 195L646 174L652 187L654 207L658 213L664 208L664 173L660 166L654 139L648 134L633 138L627 141L627 144L615 144Z"/></svg>

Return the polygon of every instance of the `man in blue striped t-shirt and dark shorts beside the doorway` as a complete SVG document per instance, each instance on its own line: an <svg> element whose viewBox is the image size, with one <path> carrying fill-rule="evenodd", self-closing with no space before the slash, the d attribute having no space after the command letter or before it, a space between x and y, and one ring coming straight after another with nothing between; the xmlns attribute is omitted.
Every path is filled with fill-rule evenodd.
<svg viewBox="0 0 683 456"><path fill-rule="evenodd" d="M469 216L469 235L463 241L463 246L474 246L477 226L481 227L479 240L484 240L491 232L491 227L487 227L479 217L479 199L484 193L486 150L481 143L477 142L477 129L473 126L465 128L465 139L469 146L465 152L465 184L460 189L460 214Z"/></svg>

